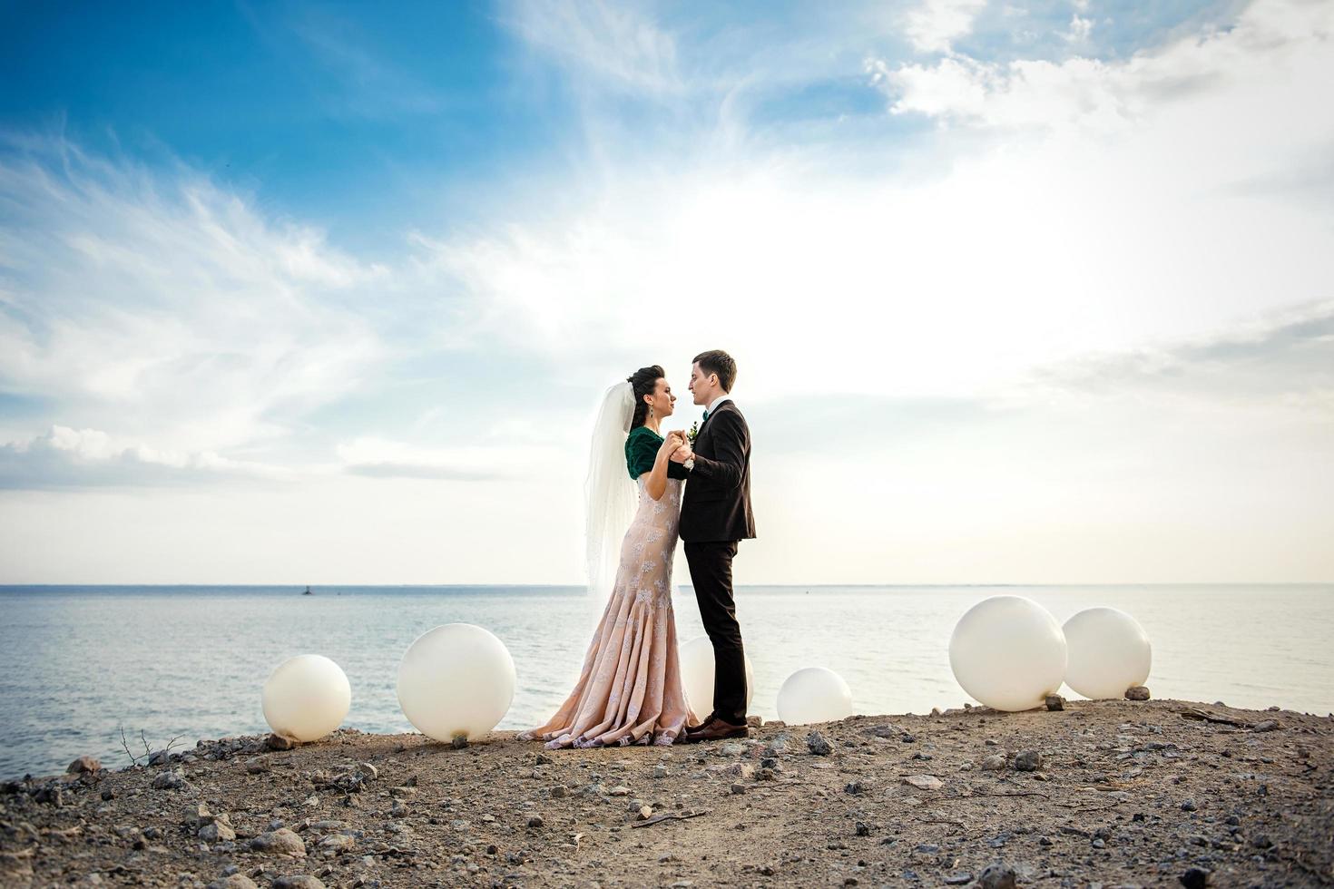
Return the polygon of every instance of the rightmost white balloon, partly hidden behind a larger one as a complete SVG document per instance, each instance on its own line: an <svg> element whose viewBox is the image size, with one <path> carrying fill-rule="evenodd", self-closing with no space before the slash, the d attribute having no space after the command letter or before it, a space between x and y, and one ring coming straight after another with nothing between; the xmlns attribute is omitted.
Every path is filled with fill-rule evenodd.
<svg viewBox="0 0 1334 889"><path fill-rule="evenodd" d="M1125 697L1149 678L1153 650L1134 617L1115 608L1086 608L1066 621L1066 685L1085 697Z"/></svg>

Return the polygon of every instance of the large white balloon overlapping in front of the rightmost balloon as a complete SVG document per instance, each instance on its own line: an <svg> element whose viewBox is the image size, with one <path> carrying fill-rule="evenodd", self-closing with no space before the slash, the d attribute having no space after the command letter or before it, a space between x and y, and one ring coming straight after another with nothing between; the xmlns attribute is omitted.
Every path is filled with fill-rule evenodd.
<svg viewBox="0 0 1334 889"><path fill-rule="evenodd" d="M1027 710L1061 688L1066 637L1046 608L992 596L970 608L950 637L950 669L963 690L996 710Z"/></svg>

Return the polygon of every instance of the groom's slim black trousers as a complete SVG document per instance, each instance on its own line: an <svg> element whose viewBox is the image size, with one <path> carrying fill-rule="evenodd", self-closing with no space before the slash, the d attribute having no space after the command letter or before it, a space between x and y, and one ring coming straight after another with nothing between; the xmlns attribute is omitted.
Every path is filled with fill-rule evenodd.
<svg viewBox="0 0 1334 889"><path fill-rule="evenodd" d="M732 558L736 541L686 544L690 581L699 616L714 644L714 713L732 725L746 721L746 649L732 602ZM696 713L704 718L707 713Z"/></svg>

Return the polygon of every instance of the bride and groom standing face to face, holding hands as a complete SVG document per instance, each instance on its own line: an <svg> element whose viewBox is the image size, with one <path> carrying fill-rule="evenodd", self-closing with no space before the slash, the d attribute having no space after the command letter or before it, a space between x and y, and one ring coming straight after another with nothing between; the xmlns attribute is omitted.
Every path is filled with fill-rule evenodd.
<svg viewBox="0 0 1334 889"><path fill-rule="evenodd" d="M736 361L726 352L695 357L688 388L704 416L694 441L682 431L660 433L676 403L662 367L640 368L607 391L587 481L590 589L607 594L606 608L574 690L520 738L556 749L748 734L732 558L738 541L755 537L755 518L750 429L730 395L735 381ZM678 538L714 646L707 714L691 709L704 701L688 702L680 680L671 601Z"/></svg>

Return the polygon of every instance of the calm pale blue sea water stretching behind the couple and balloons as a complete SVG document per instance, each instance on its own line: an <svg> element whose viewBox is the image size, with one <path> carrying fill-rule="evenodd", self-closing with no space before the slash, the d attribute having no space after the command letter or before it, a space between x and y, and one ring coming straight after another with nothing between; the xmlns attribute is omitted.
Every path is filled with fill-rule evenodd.
<svg viewBox="0 0 1334 889"><path fill-rule="evenodd" d="M582 588L0 586L0 777L63 770L91 753L128 764L119 726L156 749L184 734L267 730L260 688L284 658L320 653L352 684L347 725L412 730L395 694L420 633L456 621L510 648L519 682L503 729L531 728L568 693L588 644ZM1029 596L1065 621L1090 605L1134 614L1154 644L1155 697L1334 710L1334 585L752 586L738 613L755 669L751 712L775 718L783 680L836 670L860 713L959 706L948 640L974 602ZM694 593L682 641L702 634ZM1067 689L1069 692L1069 689Z"/></svg>

